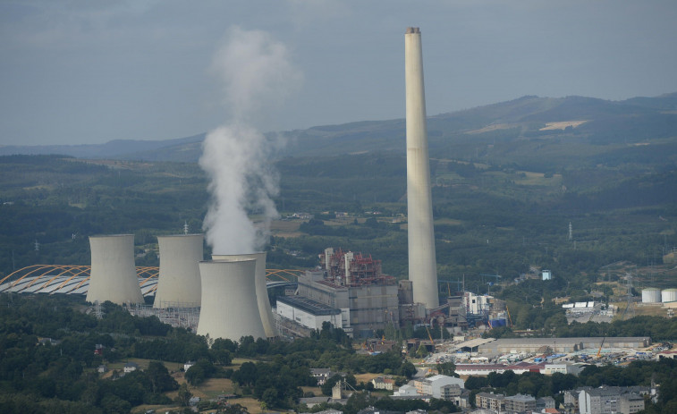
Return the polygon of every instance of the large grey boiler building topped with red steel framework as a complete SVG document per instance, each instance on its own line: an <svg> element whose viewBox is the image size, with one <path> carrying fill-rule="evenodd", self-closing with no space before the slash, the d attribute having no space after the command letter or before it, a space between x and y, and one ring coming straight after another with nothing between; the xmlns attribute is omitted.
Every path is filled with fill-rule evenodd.
<svg viewBox="0 0 677 414"><path fill-rule="evenodd" d="M297 281L298 296L306 304L336 309L341 322L333 325L353 336L370 336L387 324L400 324L398 285L393 276L383 275L380 260L331 248L319 258L319 268L305 272Z"/></svg>

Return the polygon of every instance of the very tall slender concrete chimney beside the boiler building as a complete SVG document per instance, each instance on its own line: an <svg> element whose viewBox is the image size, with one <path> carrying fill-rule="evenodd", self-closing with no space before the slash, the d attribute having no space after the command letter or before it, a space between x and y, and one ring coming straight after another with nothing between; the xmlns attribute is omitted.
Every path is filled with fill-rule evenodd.
<svg viewBox="0 0 677 414"><path fill-rule="evenodd" d="M429 309L439 305L439 298L419 28L408 28L404 34L404 78L407 95L409 279L414 302L423 303Z"/></svg>

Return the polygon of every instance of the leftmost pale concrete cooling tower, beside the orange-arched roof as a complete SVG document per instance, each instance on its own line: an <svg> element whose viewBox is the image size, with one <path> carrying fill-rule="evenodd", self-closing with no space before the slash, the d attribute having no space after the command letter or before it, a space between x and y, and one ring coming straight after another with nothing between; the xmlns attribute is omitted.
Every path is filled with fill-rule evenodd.
<svg viewBox="0 0 677 414"><path fill-rule="evenodd" d="M89 247L92 266L87 301L143 302L134 266L134 235L91 236Z"/></svg>

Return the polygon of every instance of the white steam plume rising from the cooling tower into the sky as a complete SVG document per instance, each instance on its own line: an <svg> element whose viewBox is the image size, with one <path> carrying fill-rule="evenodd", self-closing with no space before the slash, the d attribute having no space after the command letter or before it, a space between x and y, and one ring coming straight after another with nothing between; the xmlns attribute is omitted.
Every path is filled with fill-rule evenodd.
<svg viewBox="0 0 677 414"><path fill-rule="evenodd" d="M278 180L269 160L283 145L257 124L300 86L301 76L282 43L240 28L229 31L210 70L222 82L229 120L207 134L199 159L211 193L203 229L214 254L254 253L263 249L277 216L272 198ZM262 215L262 225L254 225L250 214Z"/></svg>

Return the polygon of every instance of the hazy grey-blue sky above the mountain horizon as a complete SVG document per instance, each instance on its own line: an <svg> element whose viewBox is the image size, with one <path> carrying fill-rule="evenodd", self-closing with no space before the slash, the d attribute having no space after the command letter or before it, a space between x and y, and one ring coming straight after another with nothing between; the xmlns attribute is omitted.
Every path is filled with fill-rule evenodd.
<svg viewBox="0 0 677 414"><path fill-rule="evenodd" d="M677 91L677 1L0 0L0 144L173 139L228 120L213 73L233 27L302 76L258 128L402 118L404 30L427 114L524 95Z"/></svg>

